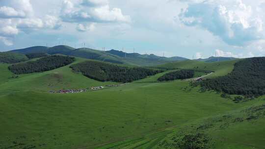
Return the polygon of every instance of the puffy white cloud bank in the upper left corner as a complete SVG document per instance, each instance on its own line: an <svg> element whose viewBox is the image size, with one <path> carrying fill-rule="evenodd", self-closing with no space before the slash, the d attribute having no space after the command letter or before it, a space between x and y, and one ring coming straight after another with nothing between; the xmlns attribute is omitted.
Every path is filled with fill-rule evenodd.
<svg viewBox="0 0 265 149"><path fill-rule="evenodd" d="M20 32L60 26L55 16L35 17L30 0L0 0L0 41L7 46L13 45L13 38Z"/></svg>

